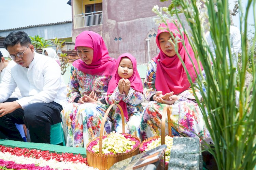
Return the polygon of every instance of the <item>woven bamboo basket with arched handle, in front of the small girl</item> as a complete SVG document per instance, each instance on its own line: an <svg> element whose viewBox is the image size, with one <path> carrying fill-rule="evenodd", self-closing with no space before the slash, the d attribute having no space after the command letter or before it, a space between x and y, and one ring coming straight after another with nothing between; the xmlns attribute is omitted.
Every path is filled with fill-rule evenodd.
<svg viewBox="0 0 256 170"><path fill-rule="evenodd" d="M120 109L121 116L122 116L122 125L123 125L122 129L123 129L123 134L125 134L125 120L124 120L123 109L119 104L112 104L109 106L109 108L107 109L107 111L103 117L103 120L101 122L101 127L100 127L100 137L97 137L97 138L99 138L99 153L94 153L94 152L87 150L87 147L89 146L90 142L86 146L86 157L87 157L88 165L91 167L94 167L94 168L98 168L100 170L109 169L113 164L139 154L139 146L140 145L138 145L136 148L133 148L130 152L127 152L127 153L116 153L116 154L103 154L102 153L102 137L103 137L104 124L105 124L106 118L110 112L110 109L114 105L117 105L117 107ZM130 134L127 134L127 135L130 135ZM133 135L131 135L131 136L140 142L140 138L138 138L137 136L133 136ZM95 138L93 141L97 140L97 138Z"/></svg>

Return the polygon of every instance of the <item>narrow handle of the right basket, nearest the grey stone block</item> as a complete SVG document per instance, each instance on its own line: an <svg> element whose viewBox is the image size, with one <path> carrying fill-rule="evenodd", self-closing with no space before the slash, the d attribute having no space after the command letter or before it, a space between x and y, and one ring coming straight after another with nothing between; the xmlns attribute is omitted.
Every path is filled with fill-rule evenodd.
<svg viewBox="0 0 256 170"><path fill-rule="evenodd" d="M170 107L163 108L162 114L162 126L161 126L161 145L165 144L165 120L166 120L166 112L167 112L167 120L168 120L168 135L172 136L172 126L171 126L171 114Z"/></svg>

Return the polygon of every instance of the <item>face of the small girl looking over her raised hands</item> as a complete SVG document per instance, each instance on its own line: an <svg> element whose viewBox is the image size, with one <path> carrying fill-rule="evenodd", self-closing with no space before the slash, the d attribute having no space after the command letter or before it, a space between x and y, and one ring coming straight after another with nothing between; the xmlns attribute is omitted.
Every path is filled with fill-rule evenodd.
<svg viewBox="0 0 256 170"><path fill-rule="evenodd" d="M121 78L129 79L133 74L132 62L128 57L123 57L118 66L118 75Z"/></svg>

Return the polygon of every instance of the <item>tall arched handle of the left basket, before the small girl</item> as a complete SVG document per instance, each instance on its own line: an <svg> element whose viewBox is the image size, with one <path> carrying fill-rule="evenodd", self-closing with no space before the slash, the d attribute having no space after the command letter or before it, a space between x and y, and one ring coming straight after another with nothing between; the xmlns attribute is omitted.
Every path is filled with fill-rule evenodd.
<svg viewBox="0 0 256 170"><path fill-rule="evenodd" d="M123 128L123 133L125 133L125 117L124 117L124 112L123 112L123 109L122 107L119 105L119 104L111 104L109 106L109 108L106 110L106 113L103 117L103 120L101 121L101 126L100 126L100 140L99 140L99 153L102 153L102 137L103 137L103 129L104 129L104 125L105 125L105 121L106 121L106 118L108 117L108 114L110 112L110 109L114 106L114 105L117 105L117 107L120 109L120 112L121 112L121 117L122 117L122 128Z"/></svg>

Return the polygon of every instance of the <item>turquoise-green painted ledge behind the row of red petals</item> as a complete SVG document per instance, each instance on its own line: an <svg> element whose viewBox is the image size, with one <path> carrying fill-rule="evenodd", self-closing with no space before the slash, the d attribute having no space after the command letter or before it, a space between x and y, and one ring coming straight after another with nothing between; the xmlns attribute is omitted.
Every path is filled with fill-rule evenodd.
<svg viewBox="0 0 256 170"><path fill-rule="evenodd" d="M86 157L86 149L85 148L73 148L73 147L64 147L59 145L51 145L47 143L32 143L32 142L20 142L14 140L0 140L0 145L4 145L7 147L19 147L19 148L28 148L28 149L38 149L50 152L57 153L73 153L73 154L81 154L83 157Z"/></svg>

